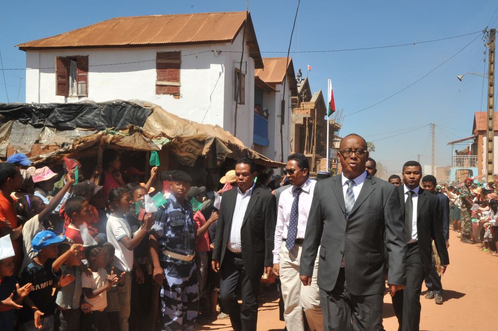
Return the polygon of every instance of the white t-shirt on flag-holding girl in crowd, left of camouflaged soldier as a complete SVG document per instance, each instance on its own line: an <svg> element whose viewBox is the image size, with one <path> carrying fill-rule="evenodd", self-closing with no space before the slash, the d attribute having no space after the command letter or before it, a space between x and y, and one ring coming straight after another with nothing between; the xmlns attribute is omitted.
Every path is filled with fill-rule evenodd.
<svg viewBox="0 0 498 331"><path fill-rule="evenodd" d="M132 238L131 228L124 217L119 217L112 213L107 220L107 241L113 244L116 253L113 265L118 271L131 271L133 269L133 251L124 247L121 239L124 237Z"/></svg>

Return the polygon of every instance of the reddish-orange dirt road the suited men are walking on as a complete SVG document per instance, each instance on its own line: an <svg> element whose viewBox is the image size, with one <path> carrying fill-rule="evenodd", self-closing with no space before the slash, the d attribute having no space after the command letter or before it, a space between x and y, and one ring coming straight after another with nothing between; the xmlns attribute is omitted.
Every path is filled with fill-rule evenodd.
<svg viewBox="0 0 498 331"><path fill-rule="evenodd" d="M484 253L477 245L463 244L450 230L450 266L443 276L444 304L427 300L422 290L420 330L498 330L498 257ZM384 297L384 328L397 330L391 298ZM283 330L278 320L278 301L265 303L258 313L258 331ZM197 330L232 330L230 320L218 320Z"/></svg>

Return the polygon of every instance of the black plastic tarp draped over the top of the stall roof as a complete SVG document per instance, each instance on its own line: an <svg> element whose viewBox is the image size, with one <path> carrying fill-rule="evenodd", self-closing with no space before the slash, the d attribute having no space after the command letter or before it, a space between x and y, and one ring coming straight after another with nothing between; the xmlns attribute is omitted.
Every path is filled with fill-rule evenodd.
<svg viewBox="0 0 498 331"><path fill-rule="evenodd" d="M115 128L128 125L143 127L151 110L136 103L113 101L103 103L0 103L0 122L19 121L33 127L60 130Z"/></svg>

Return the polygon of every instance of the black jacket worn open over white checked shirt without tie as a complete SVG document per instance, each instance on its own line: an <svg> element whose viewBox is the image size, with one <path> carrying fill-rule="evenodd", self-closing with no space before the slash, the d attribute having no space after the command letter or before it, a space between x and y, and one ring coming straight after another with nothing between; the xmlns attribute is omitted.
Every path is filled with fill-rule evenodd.
<svg viewBox="0 0 498 331"><path fill-rule="evenodd" d="M216 230L213 260L223 260L232 228L232 219L237 202L238 188L223 193ZM251 279L263 274L263 267L273 266L273 237L276 225L276 199L267 189L254 187L241 228L242 257L244 269Z"/></svg>

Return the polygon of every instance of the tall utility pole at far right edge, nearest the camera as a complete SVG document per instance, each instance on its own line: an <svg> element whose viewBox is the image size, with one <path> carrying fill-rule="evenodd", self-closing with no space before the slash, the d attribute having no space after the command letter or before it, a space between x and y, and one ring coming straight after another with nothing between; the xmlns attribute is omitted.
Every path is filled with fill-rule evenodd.
<svg viewBox="0 0 498 331"><path fill-rule="evenodd" d="M486 132L486 180L495 180L495 36L496 29L490 30L488 62L488 129Z"/></svg>

